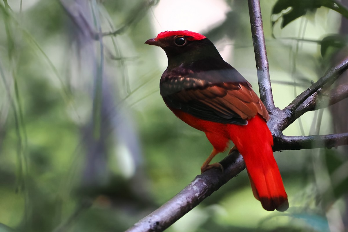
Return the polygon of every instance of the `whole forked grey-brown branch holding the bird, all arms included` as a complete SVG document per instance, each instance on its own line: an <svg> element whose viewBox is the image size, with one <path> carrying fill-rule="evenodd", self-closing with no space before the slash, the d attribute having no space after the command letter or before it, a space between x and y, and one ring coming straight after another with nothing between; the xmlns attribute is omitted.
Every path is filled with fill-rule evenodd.
<svg viewBox="0 0 348 232"><path fill-rule="evenodd" d="M284 136L282 134L282 131L303 113L309 110L315 110L316 108L325 107L325 101L328 102L326 105L329 105L347 97L347 86L337 88L326 95L322 93L322 89L325 90L325 88L331 86L332 83L347 70L348 57L339 65L327 71L321 79L296 97L285 109L280 110L276 108L273 102L270 84L260 2L259 0L248 0L248 4L256 67L258 69L260 96L262 102L270 112L270 120L267 125L274 136L273 150L298 150L321 147L332 148L348 144L348 133L319 136ZM126 232L165 230L245 168L243 157L236 150L220 163L224 167L223 172L210 169L198 175L174 198L150 215L141 219Z"/></svg>

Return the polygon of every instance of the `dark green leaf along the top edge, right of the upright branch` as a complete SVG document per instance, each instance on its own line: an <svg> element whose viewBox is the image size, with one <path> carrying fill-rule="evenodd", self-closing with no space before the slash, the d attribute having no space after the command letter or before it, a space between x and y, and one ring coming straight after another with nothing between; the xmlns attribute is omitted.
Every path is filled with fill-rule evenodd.
<svg viewBox="0 0 348 232"><path fill-rule="evenodd" d="M282 18L281 28L283 28L308 11L315 12L320 7L330 8L348 18L348 9L336 0L278 0L272 9L272 17L278 14L280 16L272 20L272 27Z"/></svg>

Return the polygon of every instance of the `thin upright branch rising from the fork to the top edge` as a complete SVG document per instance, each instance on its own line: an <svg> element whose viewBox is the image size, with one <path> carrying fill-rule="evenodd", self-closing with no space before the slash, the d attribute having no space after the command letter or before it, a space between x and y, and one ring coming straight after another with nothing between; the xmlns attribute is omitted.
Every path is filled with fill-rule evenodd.
<svg viewBox="0 0 348 232"><path fill-rule="evenodd" d="M259 0L248 0L249 15L251 24L251 33L253 37L256 70L258 74L260 98L266 106L268 112L272 111L274 106L271 79L269 76L268 59L266 52L266 43L264 41L262 16Z"/></svg>

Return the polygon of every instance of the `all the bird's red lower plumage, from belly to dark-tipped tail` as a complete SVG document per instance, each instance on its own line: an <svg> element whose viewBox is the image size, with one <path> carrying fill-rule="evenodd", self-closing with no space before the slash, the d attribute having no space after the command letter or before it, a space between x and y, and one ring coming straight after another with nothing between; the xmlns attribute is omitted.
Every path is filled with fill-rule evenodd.
<svg viewBox="0 0 348 232"><path fill-rule="evenodd" d="M273 157L273 138L266 121L257 114L246 126L223 124L196 118L180 110L173 113L188 125L204 131L209 142L218 152L226 150L231 140L242 154L248 171L254 197L266 210L285 211L287 194Z"/></svg>

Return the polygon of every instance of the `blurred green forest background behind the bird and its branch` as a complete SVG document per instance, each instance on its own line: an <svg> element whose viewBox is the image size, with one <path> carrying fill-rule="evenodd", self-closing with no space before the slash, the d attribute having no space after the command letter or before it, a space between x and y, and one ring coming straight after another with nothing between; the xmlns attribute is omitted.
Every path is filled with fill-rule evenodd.
<svg viewBox="0 0 348 232"><path fill-rule="evenodd" d="M345 6L261 1L280 109L347 55ZM166 30L206 35L258 93L247 1L0 1L1 232L124 231L200 174L212 146L165 106L167 58L144 44ZM348 132L347 109L284 134ZM274 155L286 212L263 210L243 171L166 231L347 230L347 147Z"/></svg>

